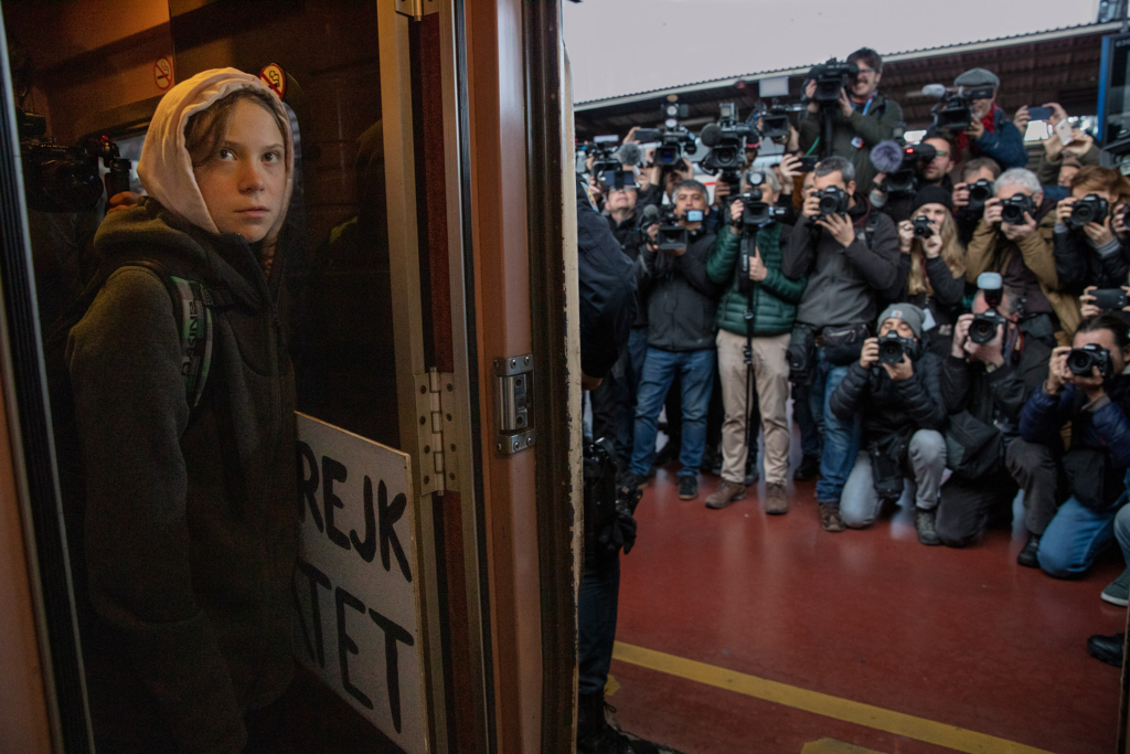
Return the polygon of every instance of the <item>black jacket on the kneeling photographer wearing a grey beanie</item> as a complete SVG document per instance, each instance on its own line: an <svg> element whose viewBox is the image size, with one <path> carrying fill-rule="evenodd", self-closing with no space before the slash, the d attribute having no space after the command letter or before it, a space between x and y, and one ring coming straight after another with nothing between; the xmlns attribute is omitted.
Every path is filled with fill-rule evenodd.
<svg viewBox="0 0 1130 754"><path fill-rule="evenodd" d="M916 430L940 432L946 426L946 407L939 372L938 357L929 352L914 363L914 374L906 380L892 380L881 366L864 370L855 362L828 399L829 406L845 422L863 414L863 448L896 435L909 441Z"/></svg>

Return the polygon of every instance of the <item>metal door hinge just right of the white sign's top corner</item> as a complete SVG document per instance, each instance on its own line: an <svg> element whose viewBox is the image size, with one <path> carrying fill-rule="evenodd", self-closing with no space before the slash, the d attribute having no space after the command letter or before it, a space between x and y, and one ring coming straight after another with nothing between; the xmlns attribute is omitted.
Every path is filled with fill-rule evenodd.
<svg viewBox="0 0 1130 754"><path fill-rule="evenodd" d="M415 375L416 380L416 447L420 459L420 495L441 495L459 489L455 461L455 380L453 374L437 372Z"/></svg>

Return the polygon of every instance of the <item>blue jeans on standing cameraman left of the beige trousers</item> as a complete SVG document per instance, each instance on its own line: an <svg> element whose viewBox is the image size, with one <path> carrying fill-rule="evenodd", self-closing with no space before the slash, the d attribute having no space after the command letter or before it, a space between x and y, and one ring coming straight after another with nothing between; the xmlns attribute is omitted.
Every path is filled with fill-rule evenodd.
<svg viewBox="0 0 1130 754"><path fill-rule="evenodd" d="M679 452L680 477L698 476L706 448L706 409L714 387L713 348L702 350L662 350L647 348L643 378L636 392L635 437L632 448L632 474L647 476L655 459L655 434L663 398L675 381L683 380L683 444Z"/></svg>

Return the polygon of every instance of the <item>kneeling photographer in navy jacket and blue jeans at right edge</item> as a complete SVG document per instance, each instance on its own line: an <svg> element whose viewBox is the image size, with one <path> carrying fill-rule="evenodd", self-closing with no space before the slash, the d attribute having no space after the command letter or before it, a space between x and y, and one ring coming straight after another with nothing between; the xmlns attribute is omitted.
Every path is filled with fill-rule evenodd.
<svg viewBox="0 0 1130 754"><path fill-rule="evenodd" d="M1114 517L1127 502L1130 467L1130 328L1116 314L1085 320L1074 347L1052 352L1048 379L1020 413L1020 436L1059 447L1071 423L1063 456L1070 497L1040 541L1040 567L1059 579L1080 575L1114 538Z"/></svg>

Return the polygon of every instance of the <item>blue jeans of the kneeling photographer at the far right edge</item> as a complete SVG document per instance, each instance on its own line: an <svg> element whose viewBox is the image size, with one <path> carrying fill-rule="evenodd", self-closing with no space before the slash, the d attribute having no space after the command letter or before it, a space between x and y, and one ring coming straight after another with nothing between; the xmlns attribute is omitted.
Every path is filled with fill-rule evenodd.
<svg viewBox="0 0 1130 754"><path fill-rule="evenodd" d="M1101 511L1087 508L1074 496L1068 499L1040 539L1040 567L1057 579L1085 573L1095 556L1114 539L1114 518L1125 502L1124 491L1113 505Z"/></svg>

